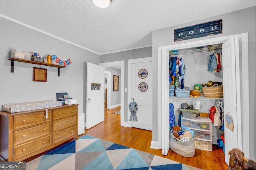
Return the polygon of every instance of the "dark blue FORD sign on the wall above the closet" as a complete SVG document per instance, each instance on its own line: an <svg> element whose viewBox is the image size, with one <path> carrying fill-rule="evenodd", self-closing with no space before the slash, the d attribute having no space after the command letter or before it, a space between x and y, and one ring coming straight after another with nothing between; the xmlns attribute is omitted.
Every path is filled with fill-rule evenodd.
<svg viewBox="0 0 256 170"><path fill-rule="evenodd" d="M174 29L174 42L222 33L222 19Z"/></svg>

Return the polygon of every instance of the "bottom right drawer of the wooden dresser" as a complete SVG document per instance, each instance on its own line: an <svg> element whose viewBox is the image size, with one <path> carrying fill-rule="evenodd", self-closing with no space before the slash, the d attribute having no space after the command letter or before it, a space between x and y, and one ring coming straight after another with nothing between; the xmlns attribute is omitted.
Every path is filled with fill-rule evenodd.
<svg viewBox="0 0 256 170"><path fill-rule="evenodd" d="M77 133L76 126L70 127L61 132L54 133L52 135L52 144L62 141L63 139L66 139L68 137L71 137L72 135L75 135L76 133Z"/></svg>

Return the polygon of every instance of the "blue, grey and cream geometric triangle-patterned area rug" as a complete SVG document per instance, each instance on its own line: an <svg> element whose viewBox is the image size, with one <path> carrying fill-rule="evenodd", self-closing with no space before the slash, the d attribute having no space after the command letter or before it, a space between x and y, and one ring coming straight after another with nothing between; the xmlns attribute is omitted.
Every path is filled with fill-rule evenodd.
<svg viewBox="0 0 256 170"><path fill-rule="evenodd" d="M190 170L188 167L90 135L26 163L26 170Z"/></svg>

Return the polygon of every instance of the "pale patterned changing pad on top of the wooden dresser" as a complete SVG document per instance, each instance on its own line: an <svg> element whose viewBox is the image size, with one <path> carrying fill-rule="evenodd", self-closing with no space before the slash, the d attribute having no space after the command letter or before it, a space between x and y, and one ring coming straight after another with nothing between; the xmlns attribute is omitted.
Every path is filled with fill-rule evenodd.
<svg viewBox="0 0 256 170"><path fill-rule="evenodd" d="M62 106L62 101L54 102L53 100L42 100L36 102L3 104L3 110L9 113L15 113L20 111L30 111L57 106Z"/></svg>

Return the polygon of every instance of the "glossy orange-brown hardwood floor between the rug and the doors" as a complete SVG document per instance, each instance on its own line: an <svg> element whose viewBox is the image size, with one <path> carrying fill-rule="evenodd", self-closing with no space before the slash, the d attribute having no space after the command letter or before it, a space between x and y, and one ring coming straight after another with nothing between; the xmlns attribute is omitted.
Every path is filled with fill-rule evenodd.
<svg viewBox="0 0 256 170"><path fill-rule="evenodd" d="M195 155L192 158L180 156L172 150L169 150L166 156L162 155L161 149L150 148L152 131L122 127L120 125L120 115L112 114L118 110L120 110L120 107L105 109L105 120L88 130L85 129L85 134L203 170L226 170L228 168L228 165L224 161L224 153L217 145L213 145L212 152L196 149Z"/></svg>

